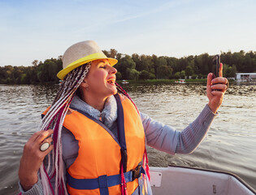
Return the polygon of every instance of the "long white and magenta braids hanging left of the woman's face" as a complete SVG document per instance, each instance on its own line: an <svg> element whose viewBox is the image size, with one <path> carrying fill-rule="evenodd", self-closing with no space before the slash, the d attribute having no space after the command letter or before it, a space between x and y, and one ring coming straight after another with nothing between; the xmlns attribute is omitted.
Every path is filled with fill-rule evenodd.
<svg viewBox="0 0 256 195"><path fill-rule="evenodd" d="M63 184L64 176L61 132L69 105L72 102L72 98L75 96L76 90L89 72L90 65L91 63L89 62L80 67L76 67L76 69L72 70L72 72L69 72L67 76L65 76L62 84L59 87L59 91L54 98L54 102L50 106L50 110L46 113L45 117L41 120L41 124L39 125L40 130L47 130L49 128L54 130L54 150L52 151L52 158L50 158L50 154L48 154L48 164L52 164L53 167L51 170L50 166L48 166L46 169L43 164L40 167L44 194L67 194L66 186ZM50 184L50 179L54 176L55 186L53 190Z"/></svg>

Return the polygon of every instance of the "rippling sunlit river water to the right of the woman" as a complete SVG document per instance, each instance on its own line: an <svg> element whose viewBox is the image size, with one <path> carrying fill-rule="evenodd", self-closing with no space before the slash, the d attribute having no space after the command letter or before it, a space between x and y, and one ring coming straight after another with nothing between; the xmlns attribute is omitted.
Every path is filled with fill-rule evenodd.
<svg viewBox="0 0 256 195"><path fill-rule="evenodd" d="M144 85L126 89L140 111L178 130L192 122L207 102L205 85ZM256 188L255 92L255 85L231 85L219 116L193 154L171 156L149 148L150 165L176 164L231 171Z"/></svg>

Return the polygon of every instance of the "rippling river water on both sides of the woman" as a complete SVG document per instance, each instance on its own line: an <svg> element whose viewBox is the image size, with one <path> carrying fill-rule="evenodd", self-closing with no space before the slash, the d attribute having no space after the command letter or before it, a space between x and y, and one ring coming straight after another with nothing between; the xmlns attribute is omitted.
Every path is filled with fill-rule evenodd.
<svg viewBox="0 0 256 195"><path fill-rule="evenodd" d="M0 85L0 194L18 193L25 142L59 85ZM207 103L202 84L124 85L139 110L178 130ZM150 166L175 164L231 171L256 189L256 85L231 85L204 141L193 154L172 156L147 148Z"/></svg>

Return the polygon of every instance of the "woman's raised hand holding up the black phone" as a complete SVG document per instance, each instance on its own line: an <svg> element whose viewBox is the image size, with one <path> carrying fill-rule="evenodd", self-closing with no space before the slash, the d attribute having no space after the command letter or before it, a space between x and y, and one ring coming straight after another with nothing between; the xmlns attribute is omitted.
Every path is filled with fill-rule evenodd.
<svg viewBox="0 0 256 195"><path fill-rule="evenodd" d="M206 93L209 99L208 106L213 113L216 113L223 102L223 96L228 89L228 79L223 76L223 64L219 64L219 77L213 78L214 74L209 73L207 76Z"/></svg>

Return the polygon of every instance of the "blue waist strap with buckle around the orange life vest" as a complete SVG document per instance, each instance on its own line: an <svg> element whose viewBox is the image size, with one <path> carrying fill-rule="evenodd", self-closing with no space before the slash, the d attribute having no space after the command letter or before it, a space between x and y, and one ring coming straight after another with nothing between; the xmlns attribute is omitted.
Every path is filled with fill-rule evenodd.
<svg viewBox="0 0 256 195"><path fill-rule="evenodd" d="M145 170L142 166L125 172L124 178L126 183L131 182L137 178L139 178L142 174L145 174ZM121 184L121 175L114 175L114 176L99 176L95 179L76 179L66 173L67 177L67 184L72 187L73 189L100 189L101 195L108 194L108 187Z"/></svg>

